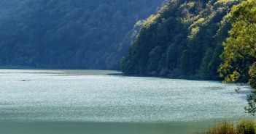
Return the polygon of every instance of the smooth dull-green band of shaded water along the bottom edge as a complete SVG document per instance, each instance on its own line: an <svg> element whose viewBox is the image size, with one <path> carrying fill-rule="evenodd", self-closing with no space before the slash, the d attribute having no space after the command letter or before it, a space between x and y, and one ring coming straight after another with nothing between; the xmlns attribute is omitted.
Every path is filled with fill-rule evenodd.
<svg viewBox="0 0 256 134"><path fill-rule="evenodd" d="M119 123L119 122L0 122L6 134L190 134L203 132L209 123Z"/></svg>

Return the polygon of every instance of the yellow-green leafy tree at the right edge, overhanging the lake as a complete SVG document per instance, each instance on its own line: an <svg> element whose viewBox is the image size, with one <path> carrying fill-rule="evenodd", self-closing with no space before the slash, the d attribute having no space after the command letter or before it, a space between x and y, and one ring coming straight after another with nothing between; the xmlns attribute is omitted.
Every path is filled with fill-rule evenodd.
<svg viewBox="0 0 256 134"><path fill-rule="evenodd" d="M247 82L251 78L250 83L255 85L256 1L244 1L233 8L230 16L232 29L224 43L220 76L226 82Z"/></svg>

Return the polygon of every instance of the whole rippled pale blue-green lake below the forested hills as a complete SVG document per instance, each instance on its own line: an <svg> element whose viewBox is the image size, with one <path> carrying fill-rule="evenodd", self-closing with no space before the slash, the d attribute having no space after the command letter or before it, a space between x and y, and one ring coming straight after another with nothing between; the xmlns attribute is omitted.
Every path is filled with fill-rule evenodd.
<svg viewBox="0 0 256 134"><path fill-rule="evenodd" d="M113 73L0 70L0 133L184 134L252 118L247 85Z"/></svg>

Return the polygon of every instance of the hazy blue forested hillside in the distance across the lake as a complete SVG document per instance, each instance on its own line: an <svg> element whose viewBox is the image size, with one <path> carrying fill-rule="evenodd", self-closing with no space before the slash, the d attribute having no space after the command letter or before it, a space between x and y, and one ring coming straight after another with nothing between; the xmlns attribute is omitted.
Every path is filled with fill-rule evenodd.
<svg viewBox="0 0 256 134"><path fill-rule="evenodd" d="M163 0L1 0L0 65L117 69Z"/></svg>

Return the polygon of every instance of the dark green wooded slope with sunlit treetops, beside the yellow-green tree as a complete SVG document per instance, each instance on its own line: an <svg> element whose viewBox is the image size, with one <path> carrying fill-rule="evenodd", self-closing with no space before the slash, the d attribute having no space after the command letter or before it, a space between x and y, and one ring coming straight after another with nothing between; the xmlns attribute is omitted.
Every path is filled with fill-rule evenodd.
<svg viewBox="0 0 256 134"><path fill-rule="evenodd" d="M241 0L171 0L142 24L128 56L129 75L220 79L222 43L231 28L230 11Z"/></svg>

